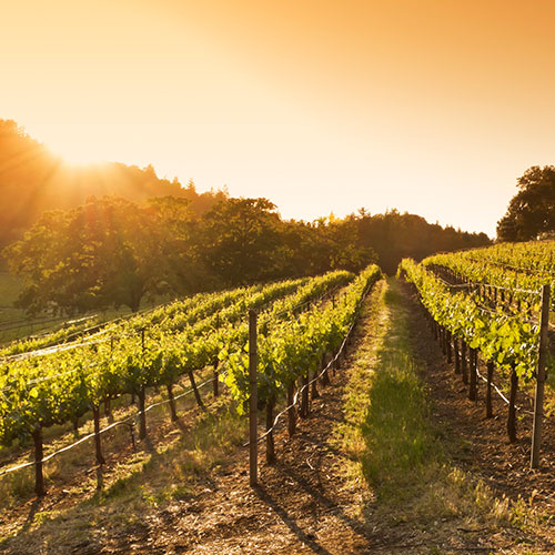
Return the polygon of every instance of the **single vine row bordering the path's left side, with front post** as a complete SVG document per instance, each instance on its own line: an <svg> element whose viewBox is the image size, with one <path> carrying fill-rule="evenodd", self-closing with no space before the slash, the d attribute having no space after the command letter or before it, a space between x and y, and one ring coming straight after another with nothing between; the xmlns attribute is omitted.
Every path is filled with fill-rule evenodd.
<svg viewBox="0 0 555 555"><path fill-rule="evenodd" d="M369 266L346 287L337 303L304 311L295 319L271 316L256 322L251 317L249 345L234 353L220 353L228 369L226 383L239 402L239 410L244 411L250 402L251 485L256 484L258 442L266 440L266 462L272 464L275 461L273 430L279 416L286 413L290 435L295 431L297 406L301 417L307 416L310 396L320 396L319 381L324 385L330 383L329 371L335 369L344 355L362 302L381 275L376 265ZM286 398L286 407L274 417L280 397ZM260 437L256 433L259 405L265 406L266 412L266 431Z"/></svg>

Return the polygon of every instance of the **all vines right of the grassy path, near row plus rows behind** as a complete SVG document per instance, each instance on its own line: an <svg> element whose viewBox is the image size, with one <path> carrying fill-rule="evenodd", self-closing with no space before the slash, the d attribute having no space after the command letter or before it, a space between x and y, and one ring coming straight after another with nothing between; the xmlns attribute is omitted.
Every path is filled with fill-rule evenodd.
<svg viewBox="0 0 555 555"><path fill-rule="evenodd" d="M482 377L478 355L485 362L486 416L492 416L494 370L509 384L508 398L497 389L508 404L509 441L516 440L517 390L521 385L526 390L536 385L532 461L536 466L536 435L539 433L541 437L543 416L537 392L539 387L543 402L545 366L553 365L547 350L551 278L487 263L486 252L440 254L422 264L403 260L400 273L417 290L448 362L454 354L455 371L461 372L464 383L468 384L471 400L476 400L477 380Z"/></svg>

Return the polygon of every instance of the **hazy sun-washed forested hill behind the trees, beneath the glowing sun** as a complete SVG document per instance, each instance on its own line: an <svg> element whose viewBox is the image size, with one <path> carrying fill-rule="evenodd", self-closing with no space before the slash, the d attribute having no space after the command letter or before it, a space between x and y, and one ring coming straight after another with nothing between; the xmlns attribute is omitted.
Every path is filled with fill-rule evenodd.
<svg viewBox="0 0 555 555"><path fill-rule="evenodd" d="M90 196L115 195L142 202L152 196L188 199L202 214L226 194L198 193L174 179L160 179L152 167L118 162L71 167L29 137L14 121L0 120L0 249L22 235L48 210L69 210Z"/></svg>

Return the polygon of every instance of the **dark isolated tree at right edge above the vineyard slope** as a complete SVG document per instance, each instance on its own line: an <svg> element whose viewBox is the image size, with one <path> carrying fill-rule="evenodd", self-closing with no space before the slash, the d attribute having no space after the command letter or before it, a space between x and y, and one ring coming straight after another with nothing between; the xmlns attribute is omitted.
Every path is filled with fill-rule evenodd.
<svg viewBox="0 0 555 555"><path fill-rule="evenodd" d="M500 241L527 241L555 231L555 167L534 165L517 181L518 192L497 222Z"/></svg>

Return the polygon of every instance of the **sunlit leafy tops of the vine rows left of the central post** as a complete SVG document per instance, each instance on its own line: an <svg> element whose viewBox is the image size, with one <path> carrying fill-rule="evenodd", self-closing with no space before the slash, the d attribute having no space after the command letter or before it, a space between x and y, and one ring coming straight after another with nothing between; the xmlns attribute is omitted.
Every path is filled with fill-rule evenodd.
<svg viewBox="0 0 555 555"><path fill-rule="evenodd" d="M248 337L241 319L249 309L282 313L283 303L273 306L280 297L290 295L292 303L314 300L352 279L340 271L201 294L109 325L94 341L72 350L0 361L0 443L24 441L39 426L72 421L121 393L173 384L219 354L241 350Z"/></svg>

